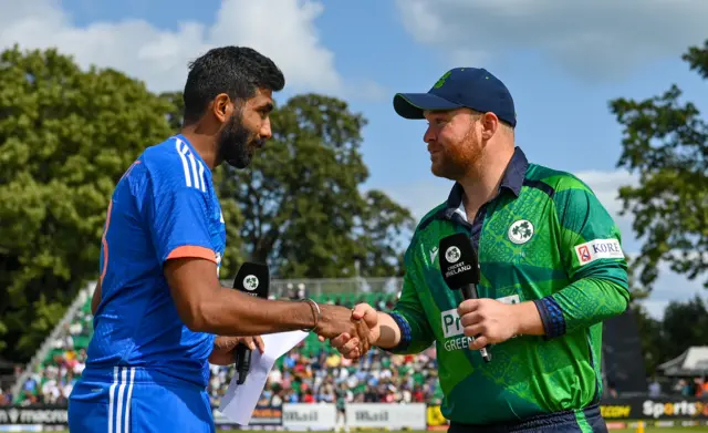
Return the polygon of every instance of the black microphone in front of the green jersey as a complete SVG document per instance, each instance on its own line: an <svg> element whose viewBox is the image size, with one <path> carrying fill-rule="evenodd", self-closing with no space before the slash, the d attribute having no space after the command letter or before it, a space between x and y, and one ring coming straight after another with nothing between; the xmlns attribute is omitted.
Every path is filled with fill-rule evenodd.
<svg viewBox="0 0 708 433"><path fill-rule="evenodd" d="M438 248L440 274L447 286L451 290L461 289L462 298L466 300L478 299L479 258L470 238L464 233L457 233L440 239ZM487 348L481 348L479 352L485 362L491 361Z"/></svg>

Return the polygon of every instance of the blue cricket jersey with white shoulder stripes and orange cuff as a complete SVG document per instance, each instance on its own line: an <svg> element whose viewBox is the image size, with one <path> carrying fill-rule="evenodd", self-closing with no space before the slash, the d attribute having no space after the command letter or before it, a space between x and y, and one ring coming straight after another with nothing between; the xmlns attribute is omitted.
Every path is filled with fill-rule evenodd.
<svg viewBox="0 0 708 433"><path fill-rule="evenodd" d="M206 386L215 336L180 320L163 266L226 247L211 171L183 135L148 147L118 182L101 248L102 299L86 370L142 367Z"/></svg>

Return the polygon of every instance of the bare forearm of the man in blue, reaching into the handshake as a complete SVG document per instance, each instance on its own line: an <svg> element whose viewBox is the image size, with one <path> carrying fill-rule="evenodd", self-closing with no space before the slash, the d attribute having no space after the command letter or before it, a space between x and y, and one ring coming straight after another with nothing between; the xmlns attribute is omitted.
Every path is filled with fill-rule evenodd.
<svg viewBox="0 0 708 433"><path fill-rule="evenodd" d="M199 310L194 330L238 337L311 329L317 315L311 302L259 299L223 287Z"/></svg>

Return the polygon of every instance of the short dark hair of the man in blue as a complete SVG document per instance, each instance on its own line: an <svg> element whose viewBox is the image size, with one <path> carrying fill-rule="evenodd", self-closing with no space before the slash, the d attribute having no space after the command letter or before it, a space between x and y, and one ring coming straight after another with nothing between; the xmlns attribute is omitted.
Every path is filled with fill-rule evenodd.
<svg viewBox="0 0 708 433"><path fill-rule="evenodd" d="M253 97L257 89L279 92L285 78L275 63L248 47L220 47L189 63L183 99L184 123L197 122L219 93L233 101Z"/></svg>

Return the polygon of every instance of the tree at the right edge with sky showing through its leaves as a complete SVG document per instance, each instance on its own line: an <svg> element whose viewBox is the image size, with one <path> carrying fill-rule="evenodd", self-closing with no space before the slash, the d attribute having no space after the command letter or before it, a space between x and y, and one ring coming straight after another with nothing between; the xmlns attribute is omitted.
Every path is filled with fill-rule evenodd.
<svg viewBox="0 0 708 433"><path fill-rule="evenodd" d="M683 60L708 79L708 41L688 49ZM644 238L635 265L649 290L660 261L689 279L708 270L708 123L681 95L674 84L660 96L610 103L624 128L617 166L639 177L620 197Z"/></svg>

